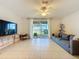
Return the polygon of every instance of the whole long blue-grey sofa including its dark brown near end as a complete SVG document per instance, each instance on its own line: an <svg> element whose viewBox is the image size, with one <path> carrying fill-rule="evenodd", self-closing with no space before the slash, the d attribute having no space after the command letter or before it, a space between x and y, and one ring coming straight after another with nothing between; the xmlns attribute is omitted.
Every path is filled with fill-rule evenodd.
<svg viewBox="0 0 79 59"><path fill-rule="evenodd" d="M57 36L52 36L51 38L65 51L69 52L72 55L79 55L79 40L73 40L73 37L74 35L70 35L69 38L59 38Z"/></svg>

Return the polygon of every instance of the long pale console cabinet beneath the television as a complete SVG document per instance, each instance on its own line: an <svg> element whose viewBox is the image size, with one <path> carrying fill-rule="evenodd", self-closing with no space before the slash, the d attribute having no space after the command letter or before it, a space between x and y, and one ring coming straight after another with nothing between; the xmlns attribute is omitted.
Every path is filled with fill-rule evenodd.
<svg viewBox="0 0 79 59"><path fill-rule="evenodd" d="M7 47L17 41L19 41L19 35L1 36L0 37L0 49Z"/></svg>

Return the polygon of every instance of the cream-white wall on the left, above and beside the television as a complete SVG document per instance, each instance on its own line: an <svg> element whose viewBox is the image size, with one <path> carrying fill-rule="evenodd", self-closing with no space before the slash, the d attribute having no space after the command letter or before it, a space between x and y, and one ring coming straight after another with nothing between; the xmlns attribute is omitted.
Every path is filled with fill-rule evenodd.
<svg viewBox="0 0 79 59"><path fill-rule="evenodd" d="M0 19L17 23L18 34L28 32L27 21L24 19L21 19L16 14L14 14L11 10L3 6L0 6Z"/></svg>

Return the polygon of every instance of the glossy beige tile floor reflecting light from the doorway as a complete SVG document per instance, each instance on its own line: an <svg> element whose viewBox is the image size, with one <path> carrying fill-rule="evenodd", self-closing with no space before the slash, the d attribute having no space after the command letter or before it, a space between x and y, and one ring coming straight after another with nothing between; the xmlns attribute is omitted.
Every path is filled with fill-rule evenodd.
<svg viewBox="0 0 79 59"><path fill-rule="evenodd" d="M49 39L30 39L0 50L0 59L78 59Z"/></svg>

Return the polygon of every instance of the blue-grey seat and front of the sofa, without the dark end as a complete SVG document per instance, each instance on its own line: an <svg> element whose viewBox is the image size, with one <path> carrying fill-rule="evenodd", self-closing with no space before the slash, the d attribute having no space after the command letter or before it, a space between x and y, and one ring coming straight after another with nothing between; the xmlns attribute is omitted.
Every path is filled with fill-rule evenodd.
<svg viewBox="0 0 79 59"><path fill-rule="evenodd" d="M69 49L70 49L70 41L68 40L63 40L61 38L57 38L55 36L52 36L51 37L52 40L54 42L56 42L59 46L61 46L63 49L65 49L67 52L69 52Z"/></svg>

